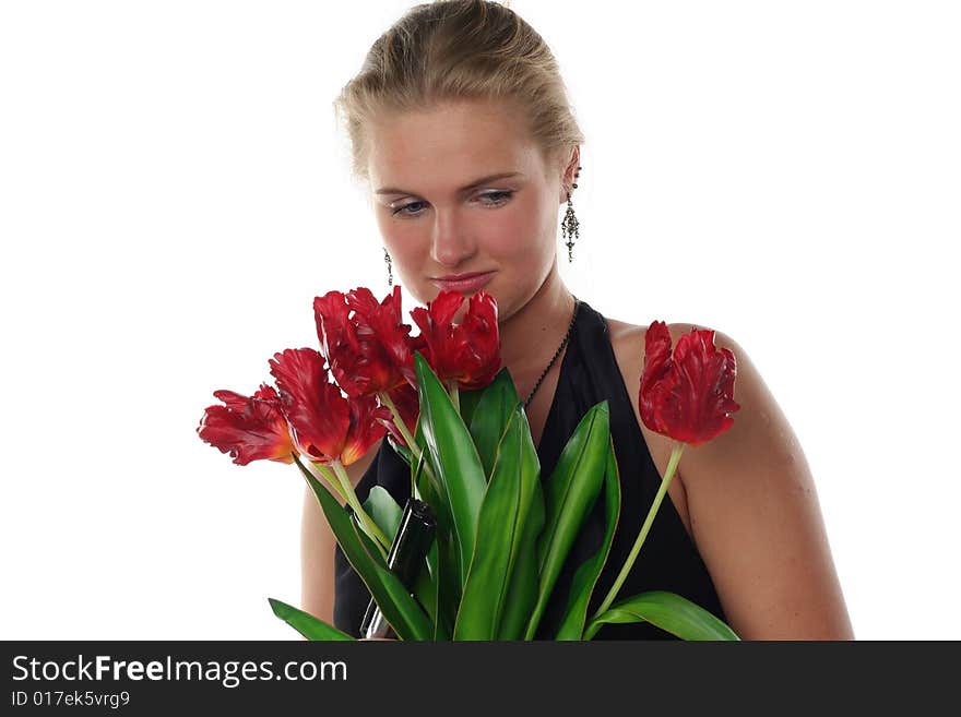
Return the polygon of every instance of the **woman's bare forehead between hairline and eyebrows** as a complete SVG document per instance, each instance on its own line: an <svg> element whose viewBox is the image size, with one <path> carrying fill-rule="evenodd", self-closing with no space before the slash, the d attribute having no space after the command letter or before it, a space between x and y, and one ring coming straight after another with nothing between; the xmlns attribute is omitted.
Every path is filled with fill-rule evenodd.
<svg viewBox="0 0 961 717"><path fill-rule="evenodd" d="M368 127L372 189L449 191L480 176L543 172L523 116L505 103L460 100Z"/></svg>

